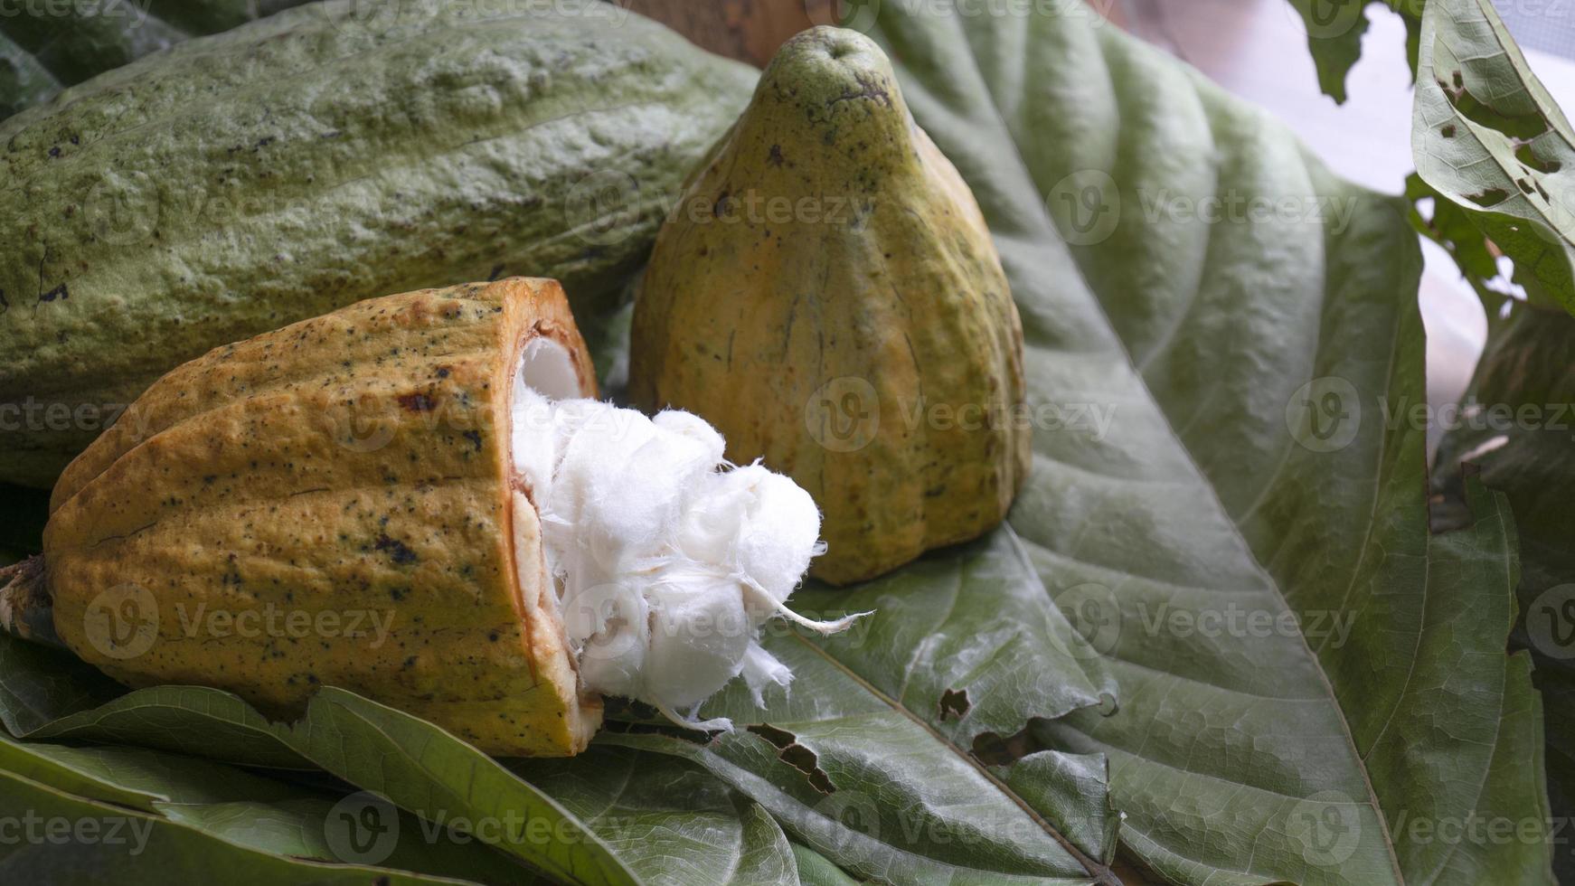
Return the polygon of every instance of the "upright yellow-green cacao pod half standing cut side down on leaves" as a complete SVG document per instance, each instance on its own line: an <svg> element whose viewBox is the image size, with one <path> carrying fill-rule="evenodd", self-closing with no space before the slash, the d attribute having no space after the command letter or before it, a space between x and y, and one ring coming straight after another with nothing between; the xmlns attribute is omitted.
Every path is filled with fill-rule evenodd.
<svg viewBox="0 0 1575 886"><path fill-rule="evenodd" d="M1005 516L1030 460L1017 308L873 41L813 28L772 60L657 238L630 393L808 489L830 582Z"/></svg>

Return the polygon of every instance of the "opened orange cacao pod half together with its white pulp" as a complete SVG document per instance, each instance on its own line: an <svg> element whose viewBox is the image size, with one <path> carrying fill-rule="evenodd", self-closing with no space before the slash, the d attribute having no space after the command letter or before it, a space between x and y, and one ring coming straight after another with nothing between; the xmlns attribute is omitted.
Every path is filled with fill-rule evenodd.
<svg viewBox="0 0 1575 886"><path fill-rule="evenodd" d="M551 280L422 290L211 351L65 472L0 628L290 716L340 686L484 751L586 746L602 696L696 721L819 549L810 496L687 412L594 400ZM0 576L6 578L6 576Z"/></svg>

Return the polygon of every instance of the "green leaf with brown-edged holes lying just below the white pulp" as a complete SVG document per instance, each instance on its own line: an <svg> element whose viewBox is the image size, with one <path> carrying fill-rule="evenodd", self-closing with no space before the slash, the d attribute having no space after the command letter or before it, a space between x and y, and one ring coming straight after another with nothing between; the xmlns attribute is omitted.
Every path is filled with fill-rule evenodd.
<svg viewBox="0 0 1575 886"><path fill-rule="evenodd" d="M1102 759L1025 759L1003 771L975 754L1041 718L1114 705L1098 653L1051 604L1010 529L854 590L805 589L794 604L816 617L874 614L832 637L767 637L794 670L792 692L761 711L731 686L702 711L747 729L704 746L600 741L699 762L865 878L1110 878Z"/></svg>

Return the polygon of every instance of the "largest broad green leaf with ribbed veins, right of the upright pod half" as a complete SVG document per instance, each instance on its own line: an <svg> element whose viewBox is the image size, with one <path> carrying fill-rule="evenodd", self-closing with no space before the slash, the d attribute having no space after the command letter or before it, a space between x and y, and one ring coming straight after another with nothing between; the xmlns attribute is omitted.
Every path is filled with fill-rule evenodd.
<svg viewBox="0 0 1575 886"><path fill-rule="evenodd" d="M1110 28L885 3L876 36L997 238L1030 397L1114 415L1036 434L1011 524L1117 677L1038 732L1109 754L1126 845L1180 881L1545 878L1507 515L1430 537L1424 431L1380 409L1425 403L1405 205ZM1411 826L1480 817L1534 839Z"/></svg>

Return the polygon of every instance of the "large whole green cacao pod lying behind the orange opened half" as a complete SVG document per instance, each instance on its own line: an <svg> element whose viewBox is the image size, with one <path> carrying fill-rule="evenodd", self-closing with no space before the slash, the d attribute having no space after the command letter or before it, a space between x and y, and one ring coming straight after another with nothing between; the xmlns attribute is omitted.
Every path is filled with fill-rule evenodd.
<svg viewBox="0 0 1575 886"><path fill-rule="evenodd" d="M0 123L0 480L359 299L531 274L610 313L756 72L617 5L501 8L312 3Z"/></svg>

